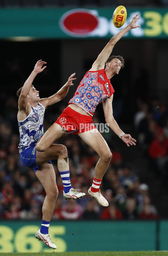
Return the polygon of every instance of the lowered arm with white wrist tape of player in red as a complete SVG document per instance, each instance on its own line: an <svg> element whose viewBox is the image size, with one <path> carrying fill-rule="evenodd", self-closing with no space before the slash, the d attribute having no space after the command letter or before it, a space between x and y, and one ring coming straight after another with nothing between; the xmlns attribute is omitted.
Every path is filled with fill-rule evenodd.
<svg viewBox="0 0 168 256"><path fill-rule="evenodd" d="M106 123L109 124L109 127L113 132L116 133L120 137L120 139L127 144L129 147L130 145L136 145L136 140L131 137L130 134L125 134L120 127L118 126L117 122L115 121L113 117L113 107L112 107L112 101L113 101L113 94L110 98L107 98L103 102L103 110L104 110L104 116L106 119Z"/></svg>

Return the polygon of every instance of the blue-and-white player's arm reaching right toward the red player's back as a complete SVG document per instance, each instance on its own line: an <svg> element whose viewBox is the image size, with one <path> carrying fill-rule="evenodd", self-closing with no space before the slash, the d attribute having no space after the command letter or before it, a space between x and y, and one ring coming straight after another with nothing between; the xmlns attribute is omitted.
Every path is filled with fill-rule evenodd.
<svg viewBox="0 0 168 256"><path fill-rule="evenodd" d="M55 104L56 102L59 102L60 100L62 100L68 93L69 90L69 86L73 86L73 80L75 80L76 78L74 77L75 73L73 73L69 78L68 81L66 82L66 84L64 84L64 86L61 87L61 89L55 93L54 95L50 96L49 98L43 98L40 100L40 103L44 106L50 106Z"/></svg>

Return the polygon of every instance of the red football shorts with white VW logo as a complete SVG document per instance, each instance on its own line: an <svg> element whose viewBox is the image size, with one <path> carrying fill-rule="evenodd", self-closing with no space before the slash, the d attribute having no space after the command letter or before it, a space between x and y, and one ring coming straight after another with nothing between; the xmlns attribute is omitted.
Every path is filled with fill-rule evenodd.
<svg viewBox="0 0 168 256"><path fill-rule="evenodd" d="M66 132L65 130L67 130L69 133L73 134L88 132L95 129L92 116L82 115L70 107L64 109L55 123L61 126L60 130L62 132Z"/></svg>

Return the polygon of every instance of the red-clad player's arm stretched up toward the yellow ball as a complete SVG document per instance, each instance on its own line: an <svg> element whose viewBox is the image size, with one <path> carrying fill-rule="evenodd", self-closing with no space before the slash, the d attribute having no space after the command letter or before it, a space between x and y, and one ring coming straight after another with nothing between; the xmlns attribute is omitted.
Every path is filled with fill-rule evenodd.
<svg viewBox="0 0 168 256"><path fill-rule="evenodd" d="M95 60L95 62L92 65L92 68L90 69L91 71L95 71L95 70L101 70L104 68L105 62L108 59L108 57L110 56L113 47L115 46L115 44L122 38L123 35L125 35L129 30L133 29L133 28L137 28L140 27L139 25L136 24L137 20L139 20L140 17L137 18L139 13L137 13L133 18L131 23L125 27L124 29L122 29L120 32L118 32L117 34L115 34L110 41L108 42L108 44L104 47L104 49L102 50L102 52L99 54L99 56L97 57L97 59Z"/></svg>

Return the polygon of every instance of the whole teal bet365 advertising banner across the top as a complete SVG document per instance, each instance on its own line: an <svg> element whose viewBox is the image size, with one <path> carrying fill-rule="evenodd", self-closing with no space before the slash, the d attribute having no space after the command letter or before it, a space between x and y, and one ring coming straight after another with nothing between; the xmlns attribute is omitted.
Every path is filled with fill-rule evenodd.
<svg viewBox="0 0 168 256"><path fill-rule="evenodd" d="M141 27L131 29L123 38L168 39L168 8L127 8L127 19L121 28L116 28L113 24L114 10L115 7L1 8L0 38L13 40L111 38L126 27L138 12L141 18L137 24Z"/></svg>

